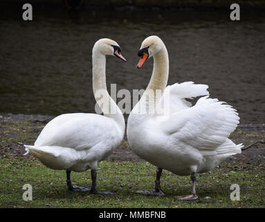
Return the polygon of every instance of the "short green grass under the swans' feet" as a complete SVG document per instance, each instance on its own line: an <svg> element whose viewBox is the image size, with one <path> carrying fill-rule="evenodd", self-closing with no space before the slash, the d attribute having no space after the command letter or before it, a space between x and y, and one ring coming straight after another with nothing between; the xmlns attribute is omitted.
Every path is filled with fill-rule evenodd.
<svg viewBox="0 0 265 222"><path fill-rule="evenodd" d="M223 162L217 169L197 177L198 200L181 201L174 196L190 193L190 177L163 171L165 196L143 196L137 189L154 187L156 168L147 162L100 162L98 189L116 195L92 195L66 189L65 171L44 167L34 157L1 155L0 207L264 207L265 162ZM72 173L77 185L90 186L90 171ZM33 186L33 200L24 201L24 184ZM230 185L240 186L240 200L230 200ZM207 197L207 198L205 198Z"/></svg>

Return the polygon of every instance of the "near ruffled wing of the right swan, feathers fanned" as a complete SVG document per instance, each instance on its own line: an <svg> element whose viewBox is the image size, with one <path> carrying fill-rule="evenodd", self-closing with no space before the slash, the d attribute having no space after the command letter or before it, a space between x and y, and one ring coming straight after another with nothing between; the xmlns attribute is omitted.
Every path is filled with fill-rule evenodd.
<svg viewBox="0 0 265 222"><path fill-rule="evenodd" d="M178 146L189 145L203 155L216 155L217 149L227 143L227 137L237 128L236 111L218 99L204 96L196 105L170 115L161 124L164 133ZM235 148L238 149L236 145Z"/></svg>

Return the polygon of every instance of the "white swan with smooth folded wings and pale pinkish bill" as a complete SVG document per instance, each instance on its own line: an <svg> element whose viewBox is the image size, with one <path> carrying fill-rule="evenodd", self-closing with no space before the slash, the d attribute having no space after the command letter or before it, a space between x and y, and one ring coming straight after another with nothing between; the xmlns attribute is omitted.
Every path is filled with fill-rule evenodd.
<svg viewBox="0 0 265 222"><path fill-rule="evenodd" d="M90 113L62 114L47 123L34 146L25 145L26 151L46 167L66 170L70 190L90 190L92 194L97 193L95 169L98 162L108 157L122 142L125 119L107 92L105 74L106 55L117 56L126 61L120 51L118 43L109 39L98 40L93 46L93 92L104 116ZM87 169L91 169L91 189L73 186L71 171L82 172Z"/></svg>

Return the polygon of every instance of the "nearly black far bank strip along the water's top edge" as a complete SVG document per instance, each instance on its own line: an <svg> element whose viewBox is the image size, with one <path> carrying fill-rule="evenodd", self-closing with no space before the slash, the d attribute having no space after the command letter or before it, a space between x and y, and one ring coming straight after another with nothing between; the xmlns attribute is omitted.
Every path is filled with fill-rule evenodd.
<svg viewBox="0 0 265 222"><path fill-rule="evenodd" d="M232 3L238 3L243 10L265 10L265 1L201 1L201 0L188 0L188 1L145 1L145 0L111 0L111 1L98 1L98 0L81 0L81 6L75 3L77 9L85 10L125 10L125 11L137 11L137 10L217 10L217 9L229 9ZM5 6L17 6L19 8L21 4L24 4L23 0L0 0L0 5ZM31 3L31 2L29 2ZM38 0L33 3L33 6L53 7L53 8L71 8L66 5L66 0ZM18 6L17 6L18 7Z"/></svg>

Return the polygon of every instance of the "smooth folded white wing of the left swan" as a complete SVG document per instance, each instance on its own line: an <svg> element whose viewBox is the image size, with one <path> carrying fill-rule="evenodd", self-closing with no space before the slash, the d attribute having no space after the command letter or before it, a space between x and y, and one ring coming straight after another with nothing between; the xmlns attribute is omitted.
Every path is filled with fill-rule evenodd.
<svg viewBox="0 0 265 222"><path fill-rule="evenodd" d="M50 121L35 146L61 146L77 151L89 149L115 137L113 121L98 114L63 114Z"/></svg>

